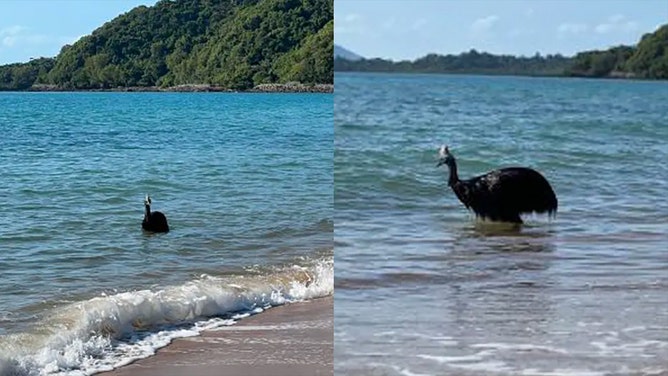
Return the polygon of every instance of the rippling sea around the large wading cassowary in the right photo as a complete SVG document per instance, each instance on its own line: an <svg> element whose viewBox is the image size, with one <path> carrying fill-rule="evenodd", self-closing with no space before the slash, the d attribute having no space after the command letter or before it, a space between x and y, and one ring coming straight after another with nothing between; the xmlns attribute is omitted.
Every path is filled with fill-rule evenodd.
<svg viewBox="0 0 668 376"><path fill-rule="evenodd" d="M337 74L341 375L668 374L668 84ZM477 221L462 179L528 166L556 218Z"/></svg>

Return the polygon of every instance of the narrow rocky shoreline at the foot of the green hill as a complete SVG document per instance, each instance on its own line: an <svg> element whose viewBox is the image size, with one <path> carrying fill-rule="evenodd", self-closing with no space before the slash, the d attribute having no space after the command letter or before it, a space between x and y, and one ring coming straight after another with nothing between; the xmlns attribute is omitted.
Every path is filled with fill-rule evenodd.
<svg viewBox="0 0 668 376"><path fill-rule="evenodd" d="M301 83L262 84L262 85L257 85L252 89L248 90L232 90L221 86L209 85L209 84L188 84L188 85L177 85L169 87L131 86L131 87L116 87L109 89L69 89L58 85L36 84L30 87L27 91L333 93L334 85L332 84L306 85Z"/></svg>

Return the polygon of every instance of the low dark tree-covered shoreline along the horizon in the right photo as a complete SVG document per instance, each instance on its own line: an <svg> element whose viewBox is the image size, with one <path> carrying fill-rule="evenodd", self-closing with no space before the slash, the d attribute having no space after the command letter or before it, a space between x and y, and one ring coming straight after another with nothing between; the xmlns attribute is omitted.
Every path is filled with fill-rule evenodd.
<svg viewBox="0 0 668 376"><path fill-rule="evenodd" d="M561 55L515 57L471 50L459 55L429 54L414 61L356 61L336 58L334 70L405 73L478 73L540 76L637 77L668 79L668 25L645 34L637 46Z"/></svg>

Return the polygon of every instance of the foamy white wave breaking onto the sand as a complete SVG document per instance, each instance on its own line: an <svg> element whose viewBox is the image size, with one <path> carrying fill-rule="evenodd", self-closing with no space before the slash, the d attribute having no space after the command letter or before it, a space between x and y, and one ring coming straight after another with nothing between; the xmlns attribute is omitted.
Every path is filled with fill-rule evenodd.
<svg viewBox="0 0 668 376"><path fill-rule="evenodd" d="M200 278L60 307L30 333L0 337L0 376L90 375L155 354L175 338L334 291L331 258L264 275ZM224 317L221 317L224 316Z"/></svg>

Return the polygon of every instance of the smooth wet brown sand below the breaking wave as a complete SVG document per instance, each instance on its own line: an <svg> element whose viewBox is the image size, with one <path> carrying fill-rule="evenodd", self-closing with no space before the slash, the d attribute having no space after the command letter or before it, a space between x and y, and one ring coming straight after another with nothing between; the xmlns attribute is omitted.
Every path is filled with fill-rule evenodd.
<svg viewBox="0 0 668 376"><path fill-rule="evenodd" d="M271 308L98 375L333 375L333 302L327 297Z"/></svg>

